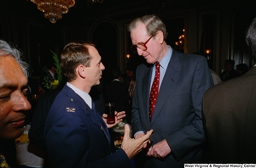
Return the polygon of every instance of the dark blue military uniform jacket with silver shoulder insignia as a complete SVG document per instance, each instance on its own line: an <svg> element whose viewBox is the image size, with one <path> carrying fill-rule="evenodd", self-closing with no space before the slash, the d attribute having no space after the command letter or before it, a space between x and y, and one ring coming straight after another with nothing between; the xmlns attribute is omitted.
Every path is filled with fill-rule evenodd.
<svg viewBox="0 0 256 168"><path fill-rule="evenodd" d="M111 154L108 128L95 107L63 87L49 109L44 132L46 167L129 167L123 149Z"/></svg>

